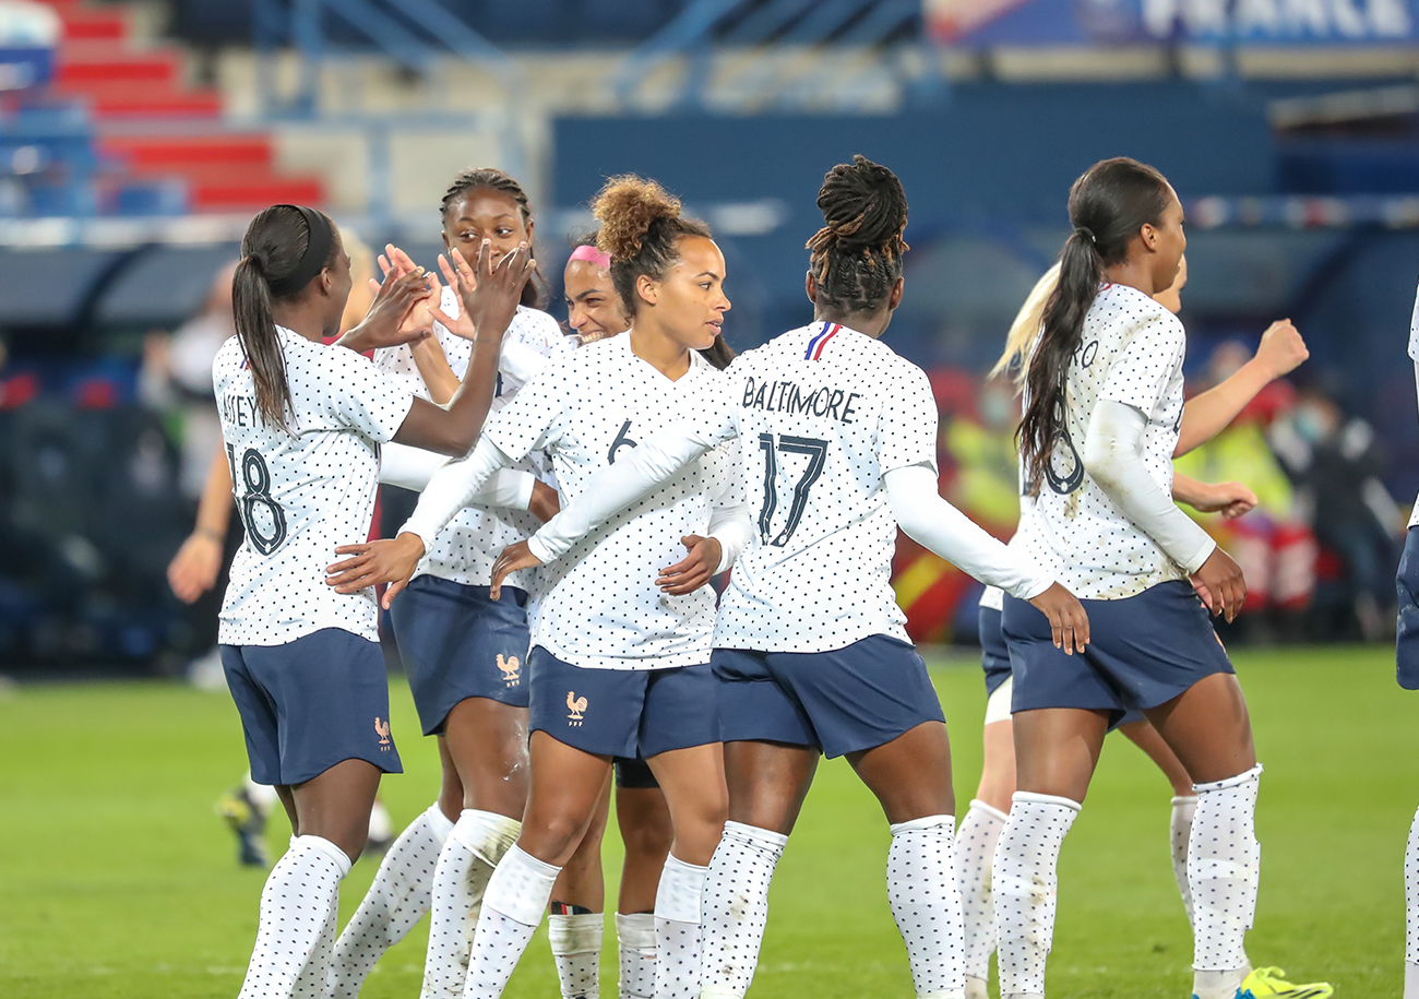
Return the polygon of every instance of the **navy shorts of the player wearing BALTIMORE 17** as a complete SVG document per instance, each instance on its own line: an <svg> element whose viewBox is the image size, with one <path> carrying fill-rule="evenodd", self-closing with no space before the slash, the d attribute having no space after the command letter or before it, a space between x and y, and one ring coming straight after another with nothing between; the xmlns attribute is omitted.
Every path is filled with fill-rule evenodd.
<svg viewBox="0 0 1419 999"><path fill-rule="evenodd" d="M885 634L827 653L715 648L710 661L725 742L786 742L833 758L946 719L921 656Z"/></svg>

